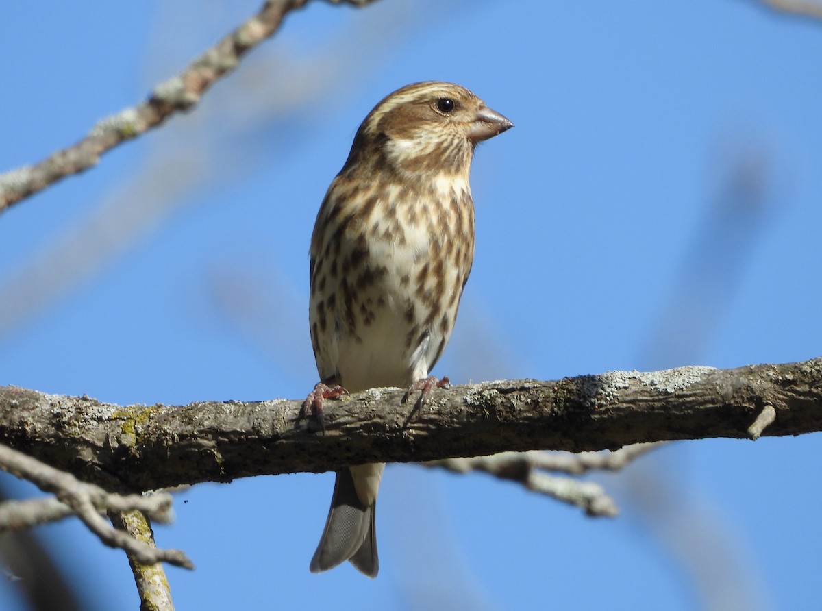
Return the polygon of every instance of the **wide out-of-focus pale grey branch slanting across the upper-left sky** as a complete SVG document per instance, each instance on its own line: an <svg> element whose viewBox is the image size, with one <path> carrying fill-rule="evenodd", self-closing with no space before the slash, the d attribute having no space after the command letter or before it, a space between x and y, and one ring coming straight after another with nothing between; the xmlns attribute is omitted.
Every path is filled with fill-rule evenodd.
<svg viewBox="0 0 822 611"><path fill-rule="evenodd" d="M195 40L215 38L212 27L222 32L220 25L206 27L184 5L163 5L148 39L147 72L169 73L169 63L182 62L175 58L192 54L178 45L199 49L203 44ZM261 167L299 156L312 134L322 132L328 108L339 107L358 90L364 74L389 62L398 41L425 23L428 11L423 5L386 2L356 15L350 25L317 43L281 40L246 58L232 86L213 88L208 104L198 106L196 113L156 130L128 176L118 179L88 210L80 210L76 220L49 235L36 252L0 278L0 341L99 275L183 208L210 201L206 194L242 181ZM455 19L460 6L449 4L438 14ZM209 7L204 4L201 11L212 19ZM179 30L183 18L196 23L196 29ZM277 137L272 140L271 134ZM272 354L271 345L282 346L290 339L281 337L284 327L288 326L273 331L276 341L266 344L266 354ZM290 359L289 347L281 347L276 355ZM310 346L308 355L313 359Z"/></svg>

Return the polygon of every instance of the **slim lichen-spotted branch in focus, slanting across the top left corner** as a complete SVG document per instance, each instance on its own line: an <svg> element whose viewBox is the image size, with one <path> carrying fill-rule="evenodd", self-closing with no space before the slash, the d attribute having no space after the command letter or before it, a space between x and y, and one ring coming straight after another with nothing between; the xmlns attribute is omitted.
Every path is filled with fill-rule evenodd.
<svg viewBox="0 0 822 611"><path fill-rule="evenodd" d="M284 16L308 0L267 0L260 11L219 43L206 49L177 76L159 83L149 99L101 119L81 141L32 166L0 174L0 213L61 178L97 164L100 155L187 111L219 78L233 71L243 55L279 29ZM373 0L330 0L364 6Z"/></svg>

